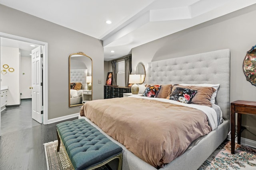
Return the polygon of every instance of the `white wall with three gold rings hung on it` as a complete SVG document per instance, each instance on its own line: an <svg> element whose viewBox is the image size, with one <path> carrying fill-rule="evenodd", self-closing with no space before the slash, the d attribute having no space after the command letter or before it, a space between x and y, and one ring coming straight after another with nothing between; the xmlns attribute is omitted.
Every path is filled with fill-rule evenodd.
<svg viewBox="0 0 256 170"><path fill-rule="evenodd" d="M1 71L6 70L6 74L1 74L1 86L8 86L7 106L20 104L20 55L18 48L1 47ZM9 68L14 68L14 72L9 72L9 68L3 68L8 64Z"/></svg>

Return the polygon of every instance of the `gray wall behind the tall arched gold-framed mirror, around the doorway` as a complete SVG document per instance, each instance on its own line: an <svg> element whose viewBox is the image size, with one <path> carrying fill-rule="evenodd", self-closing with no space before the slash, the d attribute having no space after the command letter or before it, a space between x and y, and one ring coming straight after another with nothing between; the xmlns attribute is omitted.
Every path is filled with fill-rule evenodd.
<svg viewBox="0 0 256 170"><path fill-rule="evenodd" d="M104 82L101 40L1 4L0 32L48 43L48 120L80 111L78 106L68 107L68 57L72 53L82 51L92 58L92 98L103 99L104 84L98 84L98 80Z"/></svg>

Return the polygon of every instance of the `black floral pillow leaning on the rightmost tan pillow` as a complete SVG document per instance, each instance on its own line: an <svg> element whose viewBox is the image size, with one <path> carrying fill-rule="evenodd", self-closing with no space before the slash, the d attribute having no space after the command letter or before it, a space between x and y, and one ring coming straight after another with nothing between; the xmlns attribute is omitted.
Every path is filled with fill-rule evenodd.
<svg viewBox="0 0 256 170"><path fill-rule="evenodd" d="M182 103L186 103L186 104L190 104L192 98L196 95L196 93L197 93L196 90L177 87L170 94L169 99L175 100L178 102L182 102Z"/></svg>

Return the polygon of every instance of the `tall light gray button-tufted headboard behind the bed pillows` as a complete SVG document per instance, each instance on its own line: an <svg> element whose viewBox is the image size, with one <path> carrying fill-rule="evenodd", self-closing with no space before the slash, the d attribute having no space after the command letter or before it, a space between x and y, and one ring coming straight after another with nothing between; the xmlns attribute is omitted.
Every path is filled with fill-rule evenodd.
<svg viewBox="0 0 256 170"><path fill-rule="evenodd" d="M148 84L220 84L216 104L229 120L229 49L148 63L146 78Z"/></svg>

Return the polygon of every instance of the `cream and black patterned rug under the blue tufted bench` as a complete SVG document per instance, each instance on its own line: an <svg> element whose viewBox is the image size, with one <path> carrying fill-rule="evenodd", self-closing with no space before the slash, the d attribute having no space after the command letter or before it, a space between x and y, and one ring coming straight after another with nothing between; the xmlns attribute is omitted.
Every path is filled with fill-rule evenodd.
<svg viewBox="0 0 256 170"><path fill-rule="evenodd" d="M48 170L74 170L68 155L60 145L60 152L57 152L58 141L44 143L44 150L46 156L46 164ZM95 170L109 170L108 166L102 166Z"/></svg>

